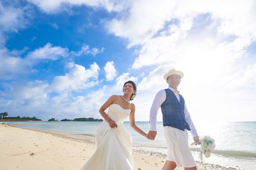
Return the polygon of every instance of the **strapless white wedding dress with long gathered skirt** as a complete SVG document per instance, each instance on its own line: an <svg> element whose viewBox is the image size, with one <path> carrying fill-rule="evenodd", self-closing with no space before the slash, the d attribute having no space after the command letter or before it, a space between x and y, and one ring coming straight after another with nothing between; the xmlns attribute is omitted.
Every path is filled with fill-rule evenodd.
<svg viewBox="0 0 256 170"><path fill-rule="evenodd" d="M132 137L123 124L130 112L118 104L109 106L108 116L117 128L105 120L97 127L96 151L81 170L133 170Z"/></svg>

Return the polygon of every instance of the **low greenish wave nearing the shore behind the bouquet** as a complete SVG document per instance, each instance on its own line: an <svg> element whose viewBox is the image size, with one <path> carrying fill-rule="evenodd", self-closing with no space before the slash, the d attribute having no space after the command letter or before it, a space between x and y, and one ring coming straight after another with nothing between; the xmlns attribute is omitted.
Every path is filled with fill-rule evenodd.
<svg viewBox="0 0 256 170"><path fill-rule="evenodd" d="M199 148L190 148L192 151L200 152ZM213 154L222 154L226 156L242 156L242 157L254 157L256 158L256 153L255 152L248 152L248 151L243 151L243 150L221 150L221 149L216 149L214 150Z"/></svg>

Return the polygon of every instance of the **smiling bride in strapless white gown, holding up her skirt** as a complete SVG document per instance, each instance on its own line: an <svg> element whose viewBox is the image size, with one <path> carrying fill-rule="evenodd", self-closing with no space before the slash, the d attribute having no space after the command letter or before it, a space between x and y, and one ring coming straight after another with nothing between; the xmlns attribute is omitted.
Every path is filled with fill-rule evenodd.
<svg viewBox="0 0 256 170"><path fill-rule="evenodd" d="M105 120L96 129L97 148L81 170L133 170L132 137L123 125L124 120L129 116L132 129L147 138L135 124L135 106L130 102L136 96L136 89L134 82L125 82L124 95L112 95L100 107Z"/></svg>

